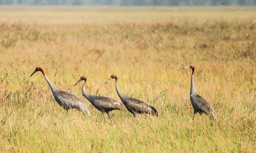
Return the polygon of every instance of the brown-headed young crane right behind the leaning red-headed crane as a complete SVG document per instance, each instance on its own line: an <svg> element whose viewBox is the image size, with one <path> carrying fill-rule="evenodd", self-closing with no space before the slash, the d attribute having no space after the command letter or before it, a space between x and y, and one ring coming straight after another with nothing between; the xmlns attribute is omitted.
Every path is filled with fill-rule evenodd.
<svg viewBox="0 0 256 153"><path fill-rule="evenodd" d="M78 84L80 81L84 80L84 84L82 86L82 93L85 96L85 98L91 102L91 104L97 108L99 111L101 111L101 113L103 114L104 120L106 122L106 118L105 118L105 112L108 114L108 117L111 120L111 116L110 116L110 111L112 110L123 110L126 111L125 106L112 99L109 97L105 97L105 96L94 96L94 95L89 95L87 92L85 92L85 84L87 82L87 78L85 76L82 76L76 84ZM76 86L76 84L74 86Z"/></svg>

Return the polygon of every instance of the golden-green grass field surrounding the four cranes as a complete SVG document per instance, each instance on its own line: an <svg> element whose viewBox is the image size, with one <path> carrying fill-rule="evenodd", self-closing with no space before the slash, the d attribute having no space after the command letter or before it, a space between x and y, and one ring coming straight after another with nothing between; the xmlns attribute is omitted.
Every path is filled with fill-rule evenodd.
<svg viewBox="0 0 256 153"><path fill-rule="evenodd" d="M255 7L1 6L0 152L255 152L255 40ZM192 119L190 64L216 123ZM36 66L91 116L66 115ZM105 123L73 85L121 102L111 74L160 116Z"/></svg>

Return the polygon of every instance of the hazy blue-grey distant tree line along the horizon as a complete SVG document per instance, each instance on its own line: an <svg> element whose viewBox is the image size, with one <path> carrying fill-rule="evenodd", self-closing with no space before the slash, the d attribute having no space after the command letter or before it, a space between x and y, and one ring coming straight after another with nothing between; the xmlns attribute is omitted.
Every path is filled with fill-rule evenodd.
<svg viewBox="0 0 256 153"><path fill-rule="evenodd" d="M0 5L255 6L256 0L0 0Z"/></svg>

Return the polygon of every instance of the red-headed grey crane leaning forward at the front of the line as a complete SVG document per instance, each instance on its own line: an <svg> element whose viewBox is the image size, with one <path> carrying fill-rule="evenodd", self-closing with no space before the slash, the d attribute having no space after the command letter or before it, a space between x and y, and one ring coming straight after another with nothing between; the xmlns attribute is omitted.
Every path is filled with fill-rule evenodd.
<svg viewBox="0 0 256 153"><path fill-rule="evenodd" d="M79 99L77 96L56 88L51 83L51 81L46 77L43 69L40 66L37 66L37 68L35 68L35 71L30 75L30 77L37 71L41 71L43 73L45 80L47 81L47 83L50 86L50 89L52 90L52 94L55 101L66 110L67 114L70 108L76 108L76 110L79 110L82 113L85 113L88 116L90 116L87 105L83 101L81 101L81 99Z"/></svg>

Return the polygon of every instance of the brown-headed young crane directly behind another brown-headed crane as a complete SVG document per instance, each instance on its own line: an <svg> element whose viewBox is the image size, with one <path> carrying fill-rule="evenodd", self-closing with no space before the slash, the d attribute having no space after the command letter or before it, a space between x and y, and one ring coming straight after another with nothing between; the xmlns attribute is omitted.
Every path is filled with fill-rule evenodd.
<svg viewBox="0 0 256 153"><path fill-rule="evenodd" d="M111 79L116 79L116 92L119 96L119 98L121 99L121 101L123 102L123 104L125 105L125 107L127 108L128 111L130 111L134 117L136 117L137 114L150 114L153 116L158 116L158 112L157 110L155 110L154 107L146 104L145 102L139 100L139 99L135 99L132 97L128 97L123 95L122 92L120 92L118 85L117 85L117 76L112 74L111 77L105 82L108 83L108 81L110 81Z"/></svg>

